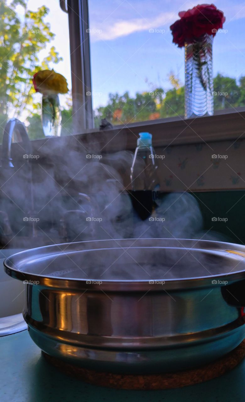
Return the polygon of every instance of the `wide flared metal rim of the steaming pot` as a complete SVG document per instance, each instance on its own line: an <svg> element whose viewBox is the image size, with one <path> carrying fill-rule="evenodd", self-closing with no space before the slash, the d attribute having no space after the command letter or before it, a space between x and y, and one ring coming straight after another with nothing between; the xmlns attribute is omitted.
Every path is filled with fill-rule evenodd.
<svg viewBox="0 0 245 402"><path fill-rule="evenodd" d="M168 242L168 245L164 246L163 241ZM130 242L132 242L131 245ZM148 244L141 246L134 246L136 242L140 244ZM107 245L110 245L108 246ZM152 243L154 246L152 246ZM169 244L175 244L175 246L169 246ZM176 244L179 243L179 246ZM114 244L114 246L112 246ZM124 245L121 246L121 244ZM192 244L192 247L191 247ZM99 247L99 246L102 247ZM194 248L194 246L197 246ZM45 257L50 257L60 255L61 252L86 252L86 251L96 251L105 249L118 249L118 248L184 248L186 250L199 250L206 251L208 253L224 252L224 258L233 259L237 262L235 268L242 263L243 269L239 271L234 271L230 273L222 273L218 275L206 275L202 277L186 277L177 279L151 279L151 281L144 280L103 280L101 283L103 289L98 283L86 283L89 279L73 279L68 277L54 277L49 275L40 275L35 273L29 273L21 271L20 268L27 262ZM34 260L33 260L34 257ZM217 242L214 240L196 240L196 239L176 239L176 238L138 238L138 239L108 239L108 240L91 240L84 242L73 242L73 243L62 243L53 244L50 246L42 246L38 248L33 248L30 250L24 250L13 254L12 256L4 260L4 270L5 272L15 279L22 281L38 281L38 286L42 285L48 288L59 288L59 289L74 289L76 291L86 291L86 290L107 290L107 291L166 291L169 290L181 290L189 288L200 288L200 287L220 287L224 286L218 281L227 281L228 284L234 283L245 279L245 246L241 244ZM212 283L212 280L217 283ZM90 279L90 281L96 281ZM98 281L98 280L97 280ZM164 283L154 283L154 286L150 282L164 282ZM34 284L30 284L34 285Z"/></svg>

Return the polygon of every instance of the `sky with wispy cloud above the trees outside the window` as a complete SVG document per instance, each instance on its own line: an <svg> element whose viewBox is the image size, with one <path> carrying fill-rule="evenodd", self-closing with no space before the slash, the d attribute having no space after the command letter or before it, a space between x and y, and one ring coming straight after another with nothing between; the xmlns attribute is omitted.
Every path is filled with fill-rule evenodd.
<svg viewBox="0 0 245 402"><path fill-rule="evenodd" d="M28 2L33 10L42 4L50 9L47 21L56 34L51 45L64 58L54 68L71 88L67 14L58 0ZM123 94L128 90L133 96L156 86L168 89L171 70L184 82L184 50L172 43L169 26L179 11L196 4L183 0L89 0L94 108L107 103L109 92ZM245 3L217 0L215 5L224 11L226 22L225 31L214 38L214 75L220 72L239 78L245 75ZM45 57L47 50L40 57Z"/></svg>

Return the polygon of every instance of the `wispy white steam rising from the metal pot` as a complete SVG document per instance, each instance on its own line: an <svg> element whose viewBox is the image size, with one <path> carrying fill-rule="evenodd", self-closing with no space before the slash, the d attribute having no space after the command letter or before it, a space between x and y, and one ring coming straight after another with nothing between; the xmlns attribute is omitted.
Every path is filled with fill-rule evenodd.
<svg viewBox="0 0 245 402"><path fill-rule="evenodd" d="M121 151L100 157L97 148L93 144L86 150L78 152L74 148L67 153L63 149L53 149L55 154L62 155L59 163L55 161L54 165L46 163L51 158L48 150L44 164L33 161L36 211L32 213L39 217L34 231L37 236L46 236L49 244L86 240L111 240L117 244L117 239L123 238L217 240L215 234L204 232L198 202L189 193L165 195L150 219L142 221L134 211L127 192L133 153ZM91 155L89 158L88 154ZM26 248L30 246L32 244L28 241ZM56 259L49 268L41 268L45 275L74 275L76 278L101 280L185 277L190 275L185 267L191 269L191 276L209 275L210 270L217 268L215 258L210 260L205 256L202 263L200 256L195 258L190 252L183 256L183 250L166 254L160 249L137 251L132 247L122 250L120 255L120 247L118 249L117 252L107 250L103 258L96 252L90 252L75 263L75 256L72 260L63 258L60 262ZM178 258L180 263L172 269Z"/></svg>

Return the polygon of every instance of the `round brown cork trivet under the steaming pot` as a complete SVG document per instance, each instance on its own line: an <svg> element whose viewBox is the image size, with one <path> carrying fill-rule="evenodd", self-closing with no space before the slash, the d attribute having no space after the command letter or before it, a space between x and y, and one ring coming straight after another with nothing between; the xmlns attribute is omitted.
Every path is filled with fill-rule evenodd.
<svg viewBox="0 0 245 402"><path fill-rule="evenodd" d="M208 381L232 370L245 356L245 340L236 349L212 363L196 369L162 374L104 373L71 365L47 353L42 353L47 361L63 373L89 384L121 390L166 390Z"/></svg>

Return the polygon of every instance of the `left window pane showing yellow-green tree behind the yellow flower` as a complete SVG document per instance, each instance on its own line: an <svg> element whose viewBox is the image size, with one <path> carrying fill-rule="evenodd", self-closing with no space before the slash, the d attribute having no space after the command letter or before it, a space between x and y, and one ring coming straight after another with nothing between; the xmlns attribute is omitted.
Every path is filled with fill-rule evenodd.
<svg viewBox="0 0 245 402"><path fill-rule="evenodd" d="M31 139L44 137L41 94L33 88L38 70L52 69L71 90L68 14L59 2L1 0L0 2L0 125L8 118L25 122ZM71 94L61 94L62 135L71 127ZM68 129L68 130L67 130Z"/></svg>

